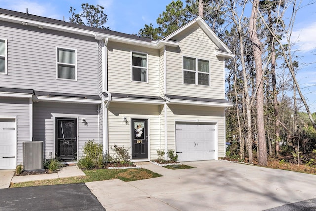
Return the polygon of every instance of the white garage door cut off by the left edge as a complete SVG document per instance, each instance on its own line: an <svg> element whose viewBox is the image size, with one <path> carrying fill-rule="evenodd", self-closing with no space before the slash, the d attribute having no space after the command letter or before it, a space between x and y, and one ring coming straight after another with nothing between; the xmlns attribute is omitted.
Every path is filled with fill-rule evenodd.
<svg viewBox="0 0 316 211"><path fill-rule="evenodd" d="M0 119L0 169L15 169L15 120Z"/></svg>

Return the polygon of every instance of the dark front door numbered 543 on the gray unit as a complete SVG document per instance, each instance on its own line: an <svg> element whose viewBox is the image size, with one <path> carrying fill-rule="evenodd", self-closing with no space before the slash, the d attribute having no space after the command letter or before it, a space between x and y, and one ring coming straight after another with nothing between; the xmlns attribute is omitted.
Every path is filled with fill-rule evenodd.
<svg viewBox="0 0 316 211"><path fill-rule="evenodd" d="M76 118L56 118L56 152L57 156L65 161L76 160Z"/></svg>

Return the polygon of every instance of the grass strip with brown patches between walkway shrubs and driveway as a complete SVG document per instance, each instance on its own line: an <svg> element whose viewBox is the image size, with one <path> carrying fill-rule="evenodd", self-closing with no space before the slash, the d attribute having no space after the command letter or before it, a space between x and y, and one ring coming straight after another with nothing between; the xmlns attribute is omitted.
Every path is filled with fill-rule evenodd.
<svg viewBox="0 0 316 211"><path fill-rule="evenodd" d="M72 184L94 182L109 179L120 179L125 182L150 179L162 176L147 169L97 169L97 170L84 170L86 176L82 177L69 177L50 180L38 180L21 183L11 183L10 188L28 187L28 186L42 186L42 185L58 185L58 184Z"/></svg>

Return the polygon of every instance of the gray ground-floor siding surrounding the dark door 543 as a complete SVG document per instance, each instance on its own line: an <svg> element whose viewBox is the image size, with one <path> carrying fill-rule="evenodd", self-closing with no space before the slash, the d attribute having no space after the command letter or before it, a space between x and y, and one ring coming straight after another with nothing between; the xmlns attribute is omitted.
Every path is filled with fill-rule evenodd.
<svg viewBox="0 0 316 211"><path fill-rule="evenodd" d="M44 141L45 158L50 158L49 152L55 152L55 117L78 118L77 122L77 155L82 156L82 147L87 140L98 142L98 112L97 105L72 103L34 103L33 137L36 141ZM86 118L85 126L81 119ZM102 140L100 140L102 143Z"/></svg>

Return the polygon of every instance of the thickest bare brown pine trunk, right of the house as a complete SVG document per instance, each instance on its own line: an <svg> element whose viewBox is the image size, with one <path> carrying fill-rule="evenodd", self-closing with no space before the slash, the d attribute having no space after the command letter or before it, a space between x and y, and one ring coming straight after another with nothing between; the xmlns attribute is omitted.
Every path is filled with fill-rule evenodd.
<svg viewBox="0 0 316 211"><path fill-rule="evenodd" d="M257 114L257 134L258 134L258 150L259 158L258 165L267 166L267 144L265 138L264 128L264 116L263 116L263 72L262 72L262 60L261 60L261 42L257 36L257 8L259 6L259 0L254 0L251 10L250 22L249 22L249 34L252 42L252 51L256 66L256 114Z"/></svg>

